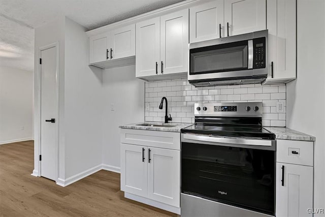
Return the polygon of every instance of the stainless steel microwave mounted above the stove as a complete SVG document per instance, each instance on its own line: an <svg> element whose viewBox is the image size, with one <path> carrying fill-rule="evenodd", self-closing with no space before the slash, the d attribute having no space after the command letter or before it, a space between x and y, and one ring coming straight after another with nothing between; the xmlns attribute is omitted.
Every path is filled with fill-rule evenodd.
<svg viewBox="0 0 325 217"><path fill-rule="evenodd" d="M189 44L194 86L262 83L268 75L268 30Z"/></svg>

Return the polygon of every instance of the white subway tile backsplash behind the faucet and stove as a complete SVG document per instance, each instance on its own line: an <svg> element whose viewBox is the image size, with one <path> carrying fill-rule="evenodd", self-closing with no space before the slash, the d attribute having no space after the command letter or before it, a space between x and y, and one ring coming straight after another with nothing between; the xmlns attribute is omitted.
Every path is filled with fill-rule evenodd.
<svg viewBox="0 0 325 217"><path fill-rule="evenodd" d="M163 110L158 108L161 97L168 100L168 114L172 122L194 122L194 103L220 102L263 102L263 126L285 127L286 88L285 84L261 85L242 84L212 87L194 87L187 79L152 81L145 83L145 103L150 109L145 112L146 121L164 121ZM284 104L284 112L276 112L276 103Z"/></svg>

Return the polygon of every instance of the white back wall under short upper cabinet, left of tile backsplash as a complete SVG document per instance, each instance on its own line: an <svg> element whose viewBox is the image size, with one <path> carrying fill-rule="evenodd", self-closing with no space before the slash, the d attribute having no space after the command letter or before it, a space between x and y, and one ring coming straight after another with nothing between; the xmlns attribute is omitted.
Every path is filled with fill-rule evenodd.
<svg viewBox="0 0 325 217"><path fill-rule="evenodd" d="M114 111L111 111L114 104ZM120 167L119 125L144 121L144 81L136 78L135 66L103 71L103 164Z"/></svg>

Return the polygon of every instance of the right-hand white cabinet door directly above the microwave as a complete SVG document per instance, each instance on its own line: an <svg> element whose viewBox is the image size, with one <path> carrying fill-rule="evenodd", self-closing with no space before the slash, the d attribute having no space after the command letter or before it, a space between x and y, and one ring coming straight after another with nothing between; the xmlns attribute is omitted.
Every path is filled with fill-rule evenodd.
<svg viewBox="0 0 325 217"><path fill-rule="evenodd" d="M266 29L266 0L225 0L224 28L224 36Z"/></svg>

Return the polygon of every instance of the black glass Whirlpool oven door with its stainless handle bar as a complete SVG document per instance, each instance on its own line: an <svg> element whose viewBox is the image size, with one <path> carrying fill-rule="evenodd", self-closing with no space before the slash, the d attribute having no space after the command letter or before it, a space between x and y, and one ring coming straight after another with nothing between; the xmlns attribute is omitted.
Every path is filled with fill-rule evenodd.
<svg viewBox="0 0 325 217"><path fill-rule="evenodd" d="M275 213L275 141L182 134L181 191Z"/></svg>

